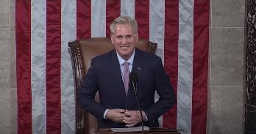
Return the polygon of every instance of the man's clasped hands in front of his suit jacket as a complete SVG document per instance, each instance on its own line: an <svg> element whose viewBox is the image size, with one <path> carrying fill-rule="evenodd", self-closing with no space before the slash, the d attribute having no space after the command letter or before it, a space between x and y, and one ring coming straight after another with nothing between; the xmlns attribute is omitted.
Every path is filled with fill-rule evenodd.
<svg viewBox="0 0 256 134"><path fill-rule="evenodd" d="M146 117L144 115L145 112L142 111L143 113L143 119ZM117 123L122 123L124 122L126 127L132 127L135 126L135 124L138 124L141 122L141 113L140 111L128 111L124 109L110 109L107 111L106 114L107 119L112 120L113 122Z"/></svg>

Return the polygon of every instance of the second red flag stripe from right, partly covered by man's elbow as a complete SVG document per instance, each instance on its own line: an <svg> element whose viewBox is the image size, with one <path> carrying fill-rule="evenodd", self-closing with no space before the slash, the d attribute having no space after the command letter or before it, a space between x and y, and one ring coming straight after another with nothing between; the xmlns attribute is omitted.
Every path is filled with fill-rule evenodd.
<svg viewBox="0 0 256 134"><path fill-rule="evenodd" d="M164 67L177 98L179 1L165 1ZM177 102L163 115L163 127L177 127Z"/></svg>

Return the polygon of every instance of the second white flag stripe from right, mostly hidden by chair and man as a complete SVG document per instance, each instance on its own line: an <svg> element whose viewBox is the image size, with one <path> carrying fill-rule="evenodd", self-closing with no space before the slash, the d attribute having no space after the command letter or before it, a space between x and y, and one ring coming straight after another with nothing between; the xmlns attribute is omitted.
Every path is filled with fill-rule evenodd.
<svg viewBox="0 0 256 134"><path fill-rule="evenodd" d="M165 25L165 0L150 0L149 1L149 40L157 42L157 56L160 56L163 61L164 49L164 29ZM159 95L154 94L154 101L157 101ZM159 124L163 127L163 116L160 116Z"/></svg>

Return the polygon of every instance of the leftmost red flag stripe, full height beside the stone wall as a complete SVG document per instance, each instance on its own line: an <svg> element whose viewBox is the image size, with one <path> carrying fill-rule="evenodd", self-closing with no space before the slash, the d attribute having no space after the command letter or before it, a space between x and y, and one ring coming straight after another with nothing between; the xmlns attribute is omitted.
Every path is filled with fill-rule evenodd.
<svg viewBox="0 0 256 134"><path fill-rule="evenodd" d="M31 1L17 0L15 7L17 49L18 133L32 133Z"/></svg>

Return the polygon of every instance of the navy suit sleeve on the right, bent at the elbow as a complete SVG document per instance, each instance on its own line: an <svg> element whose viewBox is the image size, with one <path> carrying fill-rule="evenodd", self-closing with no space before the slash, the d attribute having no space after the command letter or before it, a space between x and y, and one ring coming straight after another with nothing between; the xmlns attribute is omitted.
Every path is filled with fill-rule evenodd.
<svg viewBox="0 0 256 134"><path fill-rule="evenodd" d="M152 107L145 111L149 120L157 119L163 115L163 113L174 105L176 100L171 81L163 68L160 58L157 60L157 67L154 70L154 85L160 97Z"/></svg>

